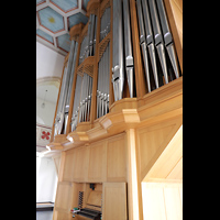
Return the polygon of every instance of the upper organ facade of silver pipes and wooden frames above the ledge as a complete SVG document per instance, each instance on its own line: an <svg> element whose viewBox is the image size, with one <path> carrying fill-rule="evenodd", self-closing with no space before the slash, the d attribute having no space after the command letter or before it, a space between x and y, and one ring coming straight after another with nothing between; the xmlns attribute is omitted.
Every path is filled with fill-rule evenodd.
<svg viewBox="0 0 220 220"><path fill-rule="evenodd" d="M53 136L103 117L120 99L139 97L140 85L147 94L182 76L163 0L90 0L87 15L86 25L70 30Z"/></svg>

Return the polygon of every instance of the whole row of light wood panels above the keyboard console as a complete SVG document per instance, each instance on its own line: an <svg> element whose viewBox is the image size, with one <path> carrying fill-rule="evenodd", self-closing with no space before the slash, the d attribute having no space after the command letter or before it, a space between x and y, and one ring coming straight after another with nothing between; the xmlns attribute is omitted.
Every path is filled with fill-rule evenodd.
<svg viewBox="0 0 220 220"><path fill-rule="evenodd" d="M127 182L125 133L65 152L66 182Z"/></svg>

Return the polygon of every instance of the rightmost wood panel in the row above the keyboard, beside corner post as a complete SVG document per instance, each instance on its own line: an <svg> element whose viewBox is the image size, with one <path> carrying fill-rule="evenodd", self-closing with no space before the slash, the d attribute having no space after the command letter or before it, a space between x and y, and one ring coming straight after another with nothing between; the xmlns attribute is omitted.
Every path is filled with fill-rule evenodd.
<svg viewBox="0 0 220 220"><path fill-rule="evenodd" d="M125 134L120 134L108 140L107 147L107 182L127 180L127 147Z"/></svg>

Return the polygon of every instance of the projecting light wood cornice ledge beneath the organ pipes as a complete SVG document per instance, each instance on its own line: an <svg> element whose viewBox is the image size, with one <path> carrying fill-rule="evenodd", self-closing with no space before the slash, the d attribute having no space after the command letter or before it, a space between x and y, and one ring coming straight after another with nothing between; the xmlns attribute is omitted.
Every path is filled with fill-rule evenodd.
<svg viewBox="0 0 220 220"><path fill-rule="evenodd" d="M145 105L141 106L140 102ZM94 123L78 123L76 131L68 133L68 135L56 135L55 141L47 145L55 147L59 144L63 146L61 151L66 151L87 142L116 135L128 129L156 124L182 114L183 77L179 77L140 99L124 98L116 101L106 116L95 120Z"/></svg>

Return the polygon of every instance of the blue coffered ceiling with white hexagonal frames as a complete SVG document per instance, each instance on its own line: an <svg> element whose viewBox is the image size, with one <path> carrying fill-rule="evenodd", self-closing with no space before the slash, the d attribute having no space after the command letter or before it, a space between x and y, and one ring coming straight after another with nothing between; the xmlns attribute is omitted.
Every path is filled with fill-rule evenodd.
<svg viewBox="0 0 220 220"><path fill-rule="evenodd" d="M67 55L70 48L69 30L86 24L89 0L36 0L36 41Z"/></svg>

